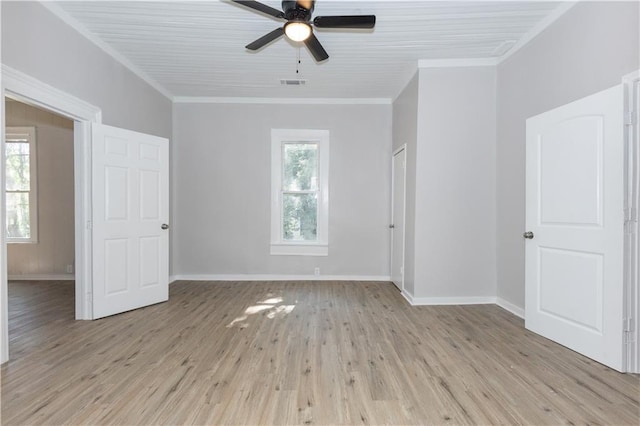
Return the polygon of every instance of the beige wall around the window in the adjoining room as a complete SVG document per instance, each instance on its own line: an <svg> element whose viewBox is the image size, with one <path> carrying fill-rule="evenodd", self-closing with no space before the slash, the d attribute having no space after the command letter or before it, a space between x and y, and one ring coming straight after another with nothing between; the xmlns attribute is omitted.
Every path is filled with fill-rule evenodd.
<svg viewBox="0 0 640 426"><path fill-rule="evenodd" d="M7 126L35 126L38 241L8 244L7 272L62 275L74 264L73 122L47 111L7 101Z"/></svg>

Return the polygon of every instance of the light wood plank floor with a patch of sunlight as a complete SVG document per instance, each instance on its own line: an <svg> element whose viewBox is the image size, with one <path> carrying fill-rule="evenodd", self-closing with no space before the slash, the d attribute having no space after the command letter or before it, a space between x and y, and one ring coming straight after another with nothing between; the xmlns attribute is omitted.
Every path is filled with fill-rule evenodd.
<svg viewBox="0 0 640 426"><path fill-rule="evenodd" d="M73 321L73 284L12 284L3 424L631 424L640 377L493 305L391 284L194 283Z"/></svg>

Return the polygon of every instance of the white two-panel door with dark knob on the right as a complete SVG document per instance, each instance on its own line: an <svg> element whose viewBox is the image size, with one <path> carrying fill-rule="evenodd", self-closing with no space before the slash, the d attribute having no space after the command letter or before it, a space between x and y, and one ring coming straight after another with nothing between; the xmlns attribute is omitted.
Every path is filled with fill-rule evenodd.
<svg viewBox="0 0 640 426"><path fill-rule="evenodd" d="M526 327L620 371L621 86L528 119L526 155Z"/></svg>

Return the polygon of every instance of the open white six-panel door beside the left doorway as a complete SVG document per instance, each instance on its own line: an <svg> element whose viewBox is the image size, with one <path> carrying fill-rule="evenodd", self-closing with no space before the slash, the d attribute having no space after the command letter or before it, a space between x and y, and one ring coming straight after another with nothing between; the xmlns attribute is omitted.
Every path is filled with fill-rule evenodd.
<svg viewBox="0 0 640 426"><path fill-rule="evenodd" d="M169 141L94 124L93 318L169 297Z"/></svg>

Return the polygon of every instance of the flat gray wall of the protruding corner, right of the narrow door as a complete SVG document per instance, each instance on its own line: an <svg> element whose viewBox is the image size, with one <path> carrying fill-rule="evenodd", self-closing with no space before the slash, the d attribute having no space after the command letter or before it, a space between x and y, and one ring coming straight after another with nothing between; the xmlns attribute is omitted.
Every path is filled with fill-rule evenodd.
<svg viewBox="0 0 640 426"><path fill-rule="evenodd" d="M494 67L420 69L415 297L492 297Z"/></svg>

